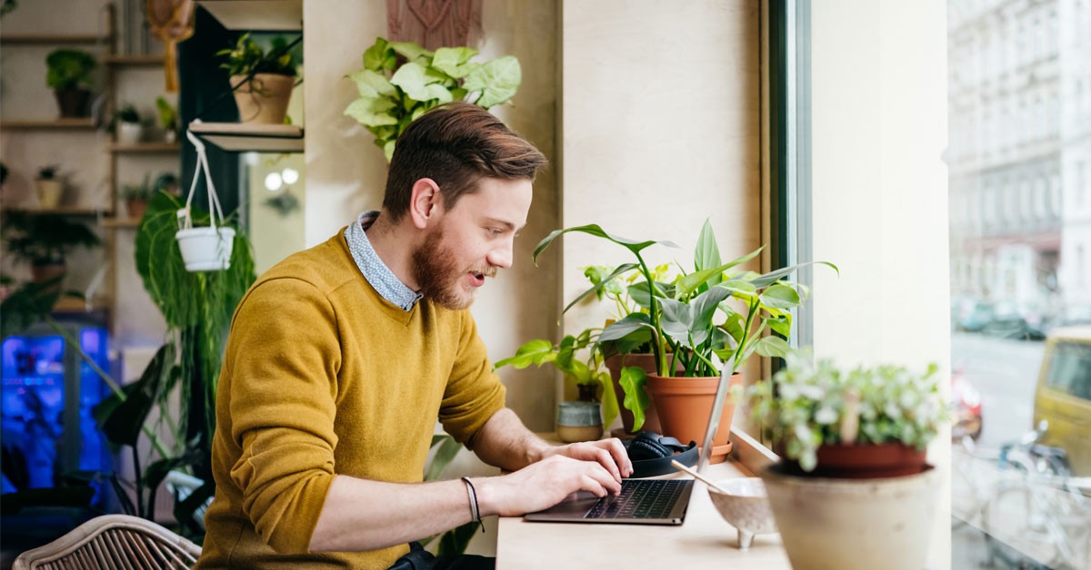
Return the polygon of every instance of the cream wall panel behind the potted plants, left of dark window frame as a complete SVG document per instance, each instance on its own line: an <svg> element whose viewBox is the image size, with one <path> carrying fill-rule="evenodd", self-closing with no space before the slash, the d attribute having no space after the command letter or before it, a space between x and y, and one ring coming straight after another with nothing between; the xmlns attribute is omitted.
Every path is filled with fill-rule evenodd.
<svg viewBox="0 0 1091 570"><path fill-rule="evenodd" d="M645 250L652 265L692 267L705 219L724 259L762 245L759 17L754 0L563 2L564 227L680 246ZM584 267L635 260L583 234L556 245L564 304L588 288ZM606 316L580 305L564 328Z"/></svg>

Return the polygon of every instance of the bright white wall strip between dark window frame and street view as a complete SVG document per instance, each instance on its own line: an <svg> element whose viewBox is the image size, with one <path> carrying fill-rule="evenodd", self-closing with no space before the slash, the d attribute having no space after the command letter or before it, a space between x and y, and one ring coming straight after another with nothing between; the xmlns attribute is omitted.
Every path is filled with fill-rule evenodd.
<svg viewBox="0 0 1091 570"><path fill-rule="evenodd" d="M843 365L950 364L946 3L812 4L814 258L818 356ZM946 385L945 385L946 386ZM949 437L930 460L949 471ZM950 566L948 478L928 568Z"/></svg>

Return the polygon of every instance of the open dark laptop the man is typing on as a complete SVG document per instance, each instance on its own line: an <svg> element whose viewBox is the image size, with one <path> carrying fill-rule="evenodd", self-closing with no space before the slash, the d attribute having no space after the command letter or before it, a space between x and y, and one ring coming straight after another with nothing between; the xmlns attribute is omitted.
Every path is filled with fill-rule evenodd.
<svg viewBox="0 0 1091 570"><path fill-rule="evenodd" d="M697 472L704 473L712 452L712 437L720 425L723 413L723 402L728 396L728 385L731 378L730 368L720 374L720 383L712 400L712 413L708 417L708 428L705 432L705 445L700 448L697 460ZM685 521L686 509L690 507L690 494L693 490L693 480L624 480L621 494L616 497L598 498L591 493L580 490L566 497L563 501L543 511L531 512L524 520L533 522L585 522L611 524L669 524L678 525Z"/></svg>

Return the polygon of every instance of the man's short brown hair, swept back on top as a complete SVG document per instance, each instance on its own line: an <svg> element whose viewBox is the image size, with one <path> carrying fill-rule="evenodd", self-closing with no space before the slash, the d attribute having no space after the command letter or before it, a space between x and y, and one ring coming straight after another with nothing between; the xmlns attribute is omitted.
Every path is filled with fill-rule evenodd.
<svg viewBox="0 0 1091 570"><path fill-rule="evenodd" d="M533 180L546 157L492 113L468 102L442 105L398 136L386 177L383 209L397 221L409 210L412 185L430 178L446 209L478 190L482 178Z"/></svg>

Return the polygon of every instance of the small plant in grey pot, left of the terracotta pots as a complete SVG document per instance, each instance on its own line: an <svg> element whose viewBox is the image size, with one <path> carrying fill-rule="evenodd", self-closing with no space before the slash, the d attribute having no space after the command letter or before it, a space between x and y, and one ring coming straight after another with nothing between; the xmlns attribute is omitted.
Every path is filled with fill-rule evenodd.
<svg viewBox="0 0 1091 570"><path fill-rule="evenodd" d="M495 368L511 365L516 369L549 363L564 374L566 381L576 385L579 400L559 407L558 437L562 441L598 439L603 424L610 425L618 417L613 383L603 367L601 344L597 341L600 331L586 329L576 336L566 335L560 344L535 339L519 347L514 356L495 363Z"/></svg>

